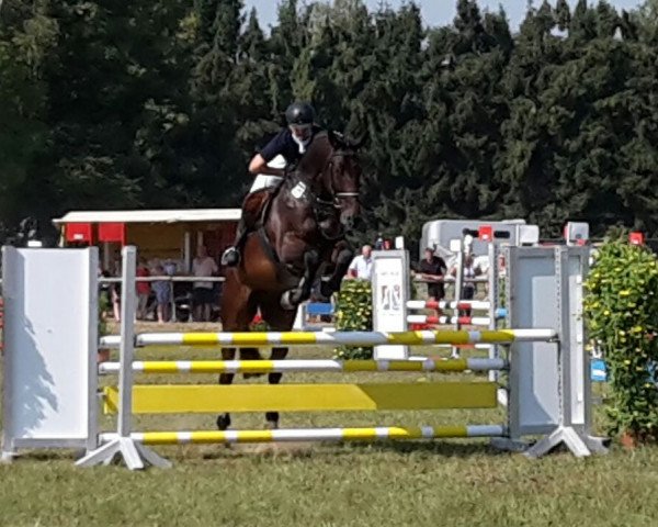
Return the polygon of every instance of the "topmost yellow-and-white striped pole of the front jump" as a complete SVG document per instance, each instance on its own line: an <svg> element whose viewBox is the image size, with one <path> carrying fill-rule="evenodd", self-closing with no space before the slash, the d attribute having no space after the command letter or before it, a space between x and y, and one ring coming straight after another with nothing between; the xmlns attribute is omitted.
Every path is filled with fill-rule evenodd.
<svg viewBox="0 0 658 527"><path fill-rule="evenodd" d="M461 345L547 341L557 338L554 329L423 330L423 332L283 332L283 333L144 333L137 346L379 346ZM101 339L104 347L117 347L121 337Z"/></svg>

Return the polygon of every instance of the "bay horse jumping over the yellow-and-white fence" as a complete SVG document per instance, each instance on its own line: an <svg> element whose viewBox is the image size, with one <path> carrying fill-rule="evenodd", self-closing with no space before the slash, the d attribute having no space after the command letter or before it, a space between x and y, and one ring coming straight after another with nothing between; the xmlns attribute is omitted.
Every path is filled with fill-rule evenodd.
<svg viewBox="0 0 658 527"><path fill-rule="evenodd" d="M340 289L353 249L345 240L360 214L361 167L356 150L363 142L350 143L336 132L320 132L313 138L297 166L272 192L245 200L257 202L260 225L247 235L242 257L226 274L222 294L222 330L247 332L256 313L273 332L293 328L297 306L310 298L321 268L332 270L321 282L321 294ZM264 205L259 201L266 199ZM250 212L251 214L253 211ZM272 360L283 360L287 347L273 347ZM223 360L234 360L236 348L222 348ZM243 360L259 360L258 348L240 348ZM222 373L219 384L230 384L232 373ZM247 375L245 375L247 377ZM270 373L277 384L281 373ZM279 413L265 414L269 428L279 427ZM230 415L217 417L217 427L230 426Z"/></svg>

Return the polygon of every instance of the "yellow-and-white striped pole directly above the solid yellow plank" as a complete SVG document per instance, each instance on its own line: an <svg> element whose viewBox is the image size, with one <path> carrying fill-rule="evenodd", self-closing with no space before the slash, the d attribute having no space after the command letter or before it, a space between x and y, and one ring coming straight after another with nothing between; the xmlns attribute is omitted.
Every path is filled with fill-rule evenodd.
<svg viewBox="0 0 658 527"><path fill-rule="evenodd" d="M507 368L503 359L426 360L170 360L134 361L136 373L287 373L386 371L489 371ZM101 373L116 373L118 362L102 362Z"/></svg>

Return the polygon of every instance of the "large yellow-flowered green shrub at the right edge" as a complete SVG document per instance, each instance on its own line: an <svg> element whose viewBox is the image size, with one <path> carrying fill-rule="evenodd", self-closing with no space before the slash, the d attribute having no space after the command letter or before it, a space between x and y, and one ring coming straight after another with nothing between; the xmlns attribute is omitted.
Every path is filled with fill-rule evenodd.
<svg viewBox="0 0 658 527"><path fill-rule="evenodd" d="M658 438L658 265L646 247L610 240L586 281L589 336L603 351L611 394L611 434L633 441Z"/></svg>

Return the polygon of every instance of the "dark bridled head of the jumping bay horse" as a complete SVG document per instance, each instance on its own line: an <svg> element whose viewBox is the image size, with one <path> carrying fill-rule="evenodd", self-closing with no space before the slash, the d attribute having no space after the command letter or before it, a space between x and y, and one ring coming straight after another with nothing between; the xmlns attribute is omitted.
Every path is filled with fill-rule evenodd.
<svg viewBox="0 0 658 527"><path fill-rule="evenodd" d="M359 191L361 166L356 152L363 145L363 138L351 143L341 134L328 133L331 152L320 175L324 192L331 198L333 206L340 211L340 223L352 227L360 213Z"/></svg>

